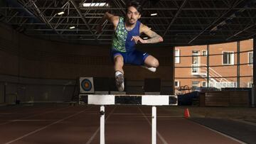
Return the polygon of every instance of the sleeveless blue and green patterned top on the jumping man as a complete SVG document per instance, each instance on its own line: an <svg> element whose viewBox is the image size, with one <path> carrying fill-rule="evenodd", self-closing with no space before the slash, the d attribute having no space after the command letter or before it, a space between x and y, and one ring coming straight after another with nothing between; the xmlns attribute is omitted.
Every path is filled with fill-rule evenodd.
<svg viewBox="0 0 256 144"><path fill-rule="evenodd" d="M112 49L119 52L129 52L135 49L135 42L132 36L139 36L140 21L137 21L131 31L125 28L124 18L120 17L117 25L117 30L114 31L112 38Z"/></svg>

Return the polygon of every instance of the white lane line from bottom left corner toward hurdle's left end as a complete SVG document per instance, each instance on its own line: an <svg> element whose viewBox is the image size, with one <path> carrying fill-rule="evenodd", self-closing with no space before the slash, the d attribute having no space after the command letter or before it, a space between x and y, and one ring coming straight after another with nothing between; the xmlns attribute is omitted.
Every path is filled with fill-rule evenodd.
<svg viewBox="0 0 256 144"><path fill-rule="evenodd" d="M66 120L66 119L68 119L68 118L71 118L71 117L73 117L73 116L76 116L76 115L78 115L79 113L82 113L82 112L84 112L84 111L86 111L86 110L87 110L87 109L82 110L82 111L79 111L78 113L74 113L74 114L71 115L71 116L67 116L67 117L62 118L62 119L60 119L60 120L58 120L58 121L55 121L54 123L50 123L50 124L48 124L47 126L44 126L43 128L38 128L37 130L32 131L31 133L27 133L26 135L23 135L23 136L21 136L21 137L19 137L19 138L16 138L16 139L14 139L14 140L11 140L11 141L9 141L9 142L7 142L7 143L5 143L5 144L14 143L14 142L16 142L17 140L20 140L21 138L25 138L25 137L28 136L28 135L32 135L33 133L36 133L36 132L41 131L41 130L43 130L43 129L45 129L45 128L48 128L49 126L53 126L54 124L59 123L60 121L64 121L64 120Z"/></svg>

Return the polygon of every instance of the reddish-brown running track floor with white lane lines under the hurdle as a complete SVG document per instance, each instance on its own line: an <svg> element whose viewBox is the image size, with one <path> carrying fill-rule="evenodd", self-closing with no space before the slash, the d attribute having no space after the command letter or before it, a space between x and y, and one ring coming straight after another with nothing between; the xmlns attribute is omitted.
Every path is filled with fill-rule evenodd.
<svg viewBox="0 0 256 144"><path fill-rule="evenodd" d="M100 106L0 108L0 143L100 143ZM150 106L105 106L108 144L151 143ZM157 143L239 143L209 128L157 109Z"/></svg>

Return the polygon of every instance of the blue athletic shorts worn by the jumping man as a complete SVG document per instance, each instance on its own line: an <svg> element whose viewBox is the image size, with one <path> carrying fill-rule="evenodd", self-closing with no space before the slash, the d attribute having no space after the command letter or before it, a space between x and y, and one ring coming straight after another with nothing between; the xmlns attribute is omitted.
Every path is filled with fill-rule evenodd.
<svg viewBox="0 0 256 144"><path fill-rule="evenodd" d="M132 64L132 65L144 65L144 61L146 57L149 56L146 52L141 52L139 50L132 50L129 52L119 52L117 50L111 50L110 52L112 62L114 62L114 56L122 55L124 57L124 64Z"/></svg>

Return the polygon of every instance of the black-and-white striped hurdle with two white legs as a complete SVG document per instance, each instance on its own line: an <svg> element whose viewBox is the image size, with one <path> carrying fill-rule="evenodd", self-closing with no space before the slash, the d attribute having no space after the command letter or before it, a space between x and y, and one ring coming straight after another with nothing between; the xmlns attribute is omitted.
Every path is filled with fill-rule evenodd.
<svg viewBox="0 0 256 144"><path fill-rule="evenodd" d="M175 95L82 94L79 104L100 105L100 144L105 144L106 105L144 105L151 107L151 143L156 144L156 106L177 106Z"/></svg>

